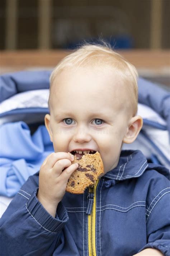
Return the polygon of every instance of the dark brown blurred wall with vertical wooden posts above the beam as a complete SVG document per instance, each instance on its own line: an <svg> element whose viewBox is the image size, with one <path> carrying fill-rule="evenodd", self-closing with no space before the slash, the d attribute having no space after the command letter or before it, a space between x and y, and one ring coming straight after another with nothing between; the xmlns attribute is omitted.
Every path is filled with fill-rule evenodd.
<svg viewBox="0 0 170 256"><path fill-rule="evenodd" d="M66 35L120 33L133 38L135 49L167 49L169 9L169 0L1 0L0 49L55 49Z"/></svg>

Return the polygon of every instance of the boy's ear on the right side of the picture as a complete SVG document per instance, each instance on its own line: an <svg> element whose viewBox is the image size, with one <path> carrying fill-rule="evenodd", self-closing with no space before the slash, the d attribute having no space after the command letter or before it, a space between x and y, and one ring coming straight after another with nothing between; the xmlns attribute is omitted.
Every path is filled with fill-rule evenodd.
<svg viewBox="0 0 170 256"><path fill-rule="evenodd" d="M126 134L123 138L123 143L130 144L136 140L137 135L140 133L140 130L143 126L143 119L141 116L134 116L129 121L129 125L126 130Z"/></svg>

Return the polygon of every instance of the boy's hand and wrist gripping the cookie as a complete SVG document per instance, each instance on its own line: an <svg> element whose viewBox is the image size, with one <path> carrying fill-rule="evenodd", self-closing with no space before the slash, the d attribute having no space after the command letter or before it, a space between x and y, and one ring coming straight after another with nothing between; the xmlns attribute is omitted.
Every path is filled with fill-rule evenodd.
<svg viewBox="0 0 170 256"><path fill-rule="evenodd" d="M58 203L66 192L68 179L78 167L78 164L72 164L72 161L74 158L72 159L70 153L52 153L40 168L37 198L53 217L56 215Z"/></svg>

